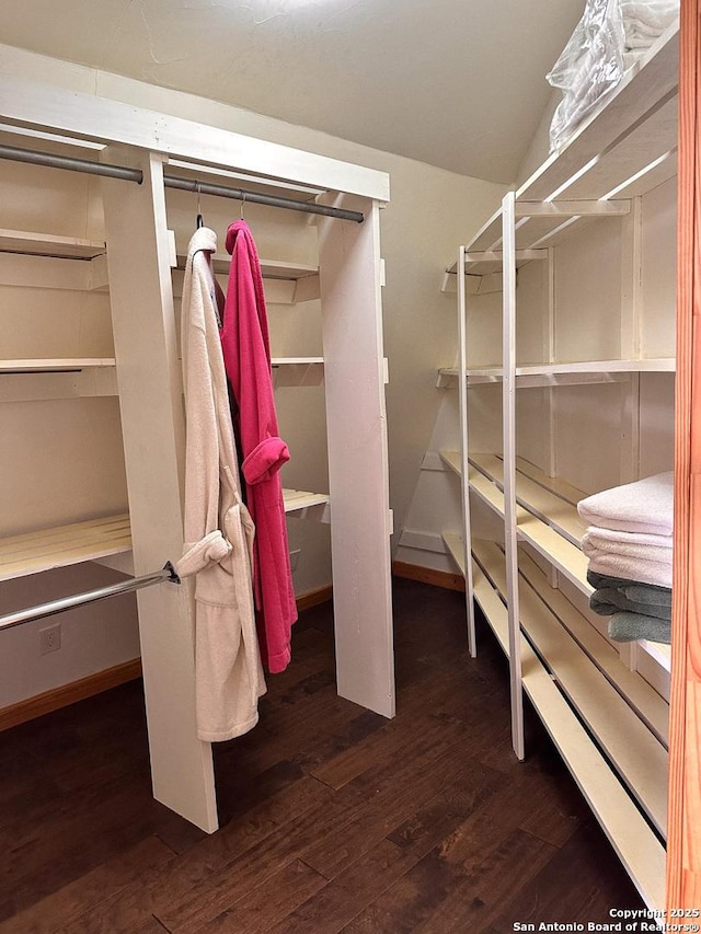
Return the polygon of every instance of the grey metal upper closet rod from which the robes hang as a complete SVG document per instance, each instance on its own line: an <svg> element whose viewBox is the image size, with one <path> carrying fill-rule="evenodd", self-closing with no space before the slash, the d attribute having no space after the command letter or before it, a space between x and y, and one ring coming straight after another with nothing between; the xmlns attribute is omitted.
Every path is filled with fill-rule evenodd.
<svg viewBox="0 0 701 934"><path fill-rule="evenodd" d="M0 146L0 159L11 159L14 162L28 162L32 165L47 165L49 169L68 169L71 172L85 172L89 175L104 175L110 178L122 178L126 182L143 181L140 169L129 169L124 165L111 165L107 162L92 162L90 159L74 159L70 155L57 155L53 152L39 152L33 149L21 149L18 146ZM263 195L260 192L248 192L244 188L230 188L227 185L214 185L209 182L198 182L192 178L180 178L175 175L163 175L166 188L180 188L183 192L194 192L202 195L215 195L221 198L234 198L238 201L250 201L255 205L268 205L285 210L315 214L323 217L335 217L341 220L353 220L363 223L363 211L349 211L334 208L331 205L317 205L312 201L296 201L292 198L280 198L275 195Z"/></svg>

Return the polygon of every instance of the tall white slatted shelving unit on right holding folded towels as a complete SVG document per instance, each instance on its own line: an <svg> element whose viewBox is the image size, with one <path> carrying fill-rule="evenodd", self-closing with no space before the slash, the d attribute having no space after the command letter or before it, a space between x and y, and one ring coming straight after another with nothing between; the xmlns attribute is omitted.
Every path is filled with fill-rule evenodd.
<svg viewBox="0 0 701 934"><path fill-rule="evenodd" d="M466 577L471 652L474 600L509 659L517 756L525 756L525 691L642 897L656 909L665 904L668 703L635 670L634 652L619 652L586 610L591 587L576 504L601 487L587 481L586 468L573 469L576 454L560 447L567 440L561 394L579 400L571 446L578 440L577 419L579 426L597 418L604 424L616 413L620 450L601 457L614 462L618 483L636 478L645 430L641 381L650 374L671 380L675 371L674 337L657 356L654 328L648 336L656 311L652 299L643 301L642 268L643 256L650 258L645 195L673 184L676 174L677 83L673 26L460 247L443 285L458 293L459 365L441 369L437 382L457 384L460 393L460 449L440 457L461 481L464 534L446 532L444 542ZM596 255L587 252L587 237L604 239L608 266L617 269L614 315L597 311L616 289L607 293L606 282L599 289L597 270L587 269ZM591 315L573 322L571 308L582 311L582 301L573 304L567 288L577 287L590 297ZM673 332L674 311L659 314L671 319ZM491 335L486 341L475 341L480 327ZM581 342L573 339L577 328ZM472 365L475 353L484 356ZM501 450L485 452L472 441L480 437L472 422L485 417L486 396L480 411L470 402L480 392L491 393L493 403L499 396L491 412L501 419ZM614 394L588 395L601 392ZM610 426L606 431L610 438ZM588 437L584 429L583 461ZM494 528L496 517L502 529L493 540L480 539L484 510L492 516L484 527ZM641 642L636 650L669 670L669 646Z"/></svg>

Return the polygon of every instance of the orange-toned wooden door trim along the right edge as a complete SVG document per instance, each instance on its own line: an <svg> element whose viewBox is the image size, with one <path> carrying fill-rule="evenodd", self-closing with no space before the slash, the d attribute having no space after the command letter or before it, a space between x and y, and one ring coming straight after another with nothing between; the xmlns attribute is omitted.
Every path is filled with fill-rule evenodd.
<svg viewBox="0 0 701 934"><path fill-rule="evenodd" d="M681 3L667 909L701 908L701 0ZM685 915L685 921L690 915ZM681 915L668 916L670 922ZM694 918L694 923L698 920Z"/></svg>

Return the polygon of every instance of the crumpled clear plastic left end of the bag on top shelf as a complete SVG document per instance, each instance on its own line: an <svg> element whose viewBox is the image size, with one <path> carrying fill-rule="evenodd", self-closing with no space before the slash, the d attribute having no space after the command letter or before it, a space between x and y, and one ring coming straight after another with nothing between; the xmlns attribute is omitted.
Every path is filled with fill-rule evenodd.
<svg viewBox="0 0 701 934"><path fill-rule="evenodd" d="M550 125L550 151L560 149L595 104L623 77L620 0L588 0L584 14L547 74L563 97Z"/></svg>

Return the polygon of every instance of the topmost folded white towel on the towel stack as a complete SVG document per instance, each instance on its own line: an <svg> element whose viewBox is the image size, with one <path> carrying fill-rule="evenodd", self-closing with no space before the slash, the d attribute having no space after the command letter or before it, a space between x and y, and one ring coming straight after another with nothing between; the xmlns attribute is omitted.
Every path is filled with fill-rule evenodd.
<svg viewBox="0 0 701 934"><path fill-rule="evenodd" d="M577 510L588 526L618 529L621 532L671 535L674 473L658 473L635 483L595 493L582 499Z"/></svg>

